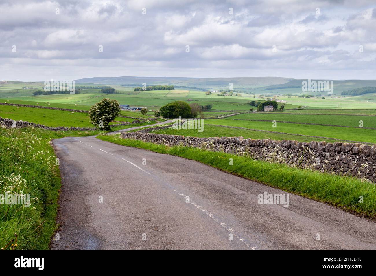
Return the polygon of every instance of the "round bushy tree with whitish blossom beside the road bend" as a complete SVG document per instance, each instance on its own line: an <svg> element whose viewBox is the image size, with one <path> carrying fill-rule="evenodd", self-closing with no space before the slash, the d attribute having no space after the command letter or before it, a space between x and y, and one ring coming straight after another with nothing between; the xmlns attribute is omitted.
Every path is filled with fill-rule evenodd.
<svg viewBox="0 0 376 276"><path fill-rule="evenodd" d="M95 105L90 107L88 111L90 122L102 130L109 130L109 122L114 120L119 114L119 102L116 100L110 100L109 98L105 98L102 99L102 101L97 102Z"/></svg>

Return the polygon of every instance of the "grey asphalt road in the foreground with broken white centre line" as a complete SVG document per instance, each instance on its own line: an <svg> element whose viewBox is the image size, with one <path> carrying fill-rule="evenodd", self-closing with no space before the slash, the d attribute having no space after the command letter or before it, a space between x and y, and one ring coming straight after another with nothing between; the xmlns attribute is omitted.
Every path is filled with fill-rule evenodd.
<svg viewBox="0 0 376 276"><path fill-rule="evenodd" d="M258 204L265 191L286 193L196 161L95 137L53 145L52 249L376 249L374 222L293 194L287 208Z"/></svg>

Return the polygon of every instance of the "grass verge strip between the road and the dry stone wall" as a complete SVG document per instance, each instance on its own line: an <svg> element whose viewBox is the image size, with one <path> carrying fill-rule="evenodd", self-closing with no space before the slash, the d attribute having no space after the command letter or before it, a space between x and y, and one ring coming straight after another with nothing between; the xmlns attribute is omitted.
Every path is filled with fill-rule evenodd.
<svg viewBox="0 0 376 276"><path fill-rule="evenodd" d="M376 220L376 186L355 177L292 168L285 164L268 163L224 152L121 139L119 135L101 134L97 138L123 146L196 160L222 171ZM233 165L229 165L229 158L233 159ZM360 197L363 197L362 203L359 202Z"/></svg>

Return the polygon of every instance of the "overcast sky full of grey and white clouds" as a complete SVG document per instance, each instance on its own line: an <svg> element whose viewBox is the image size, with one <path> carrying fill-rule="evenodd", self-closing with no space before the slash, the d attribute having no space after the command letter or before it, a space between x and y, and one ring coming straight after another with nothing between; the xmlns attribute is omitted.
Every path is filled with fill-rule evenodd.
<svg viewBox="0 0 376 276"><path fill-rule="evenodd" d="M0 37L0 80L376 79L374 0L1 0Z"/></svg>

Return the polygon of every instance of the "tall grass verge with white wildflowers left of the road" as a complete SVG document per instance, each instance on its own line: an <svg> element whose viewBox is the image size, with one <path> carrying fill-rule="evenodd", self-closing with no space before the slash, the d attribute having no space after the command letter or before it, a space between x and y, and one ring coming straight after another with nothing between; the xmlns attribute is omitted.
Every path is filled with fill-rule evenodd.
<svg viewBox="0 0 376 276"><path fill-rule="evenodd" d="M2 248L17 233L16 249L48 249L61 185L49 132L0 128L0 194L30 194L30 207L0 204Z"/></svg>

